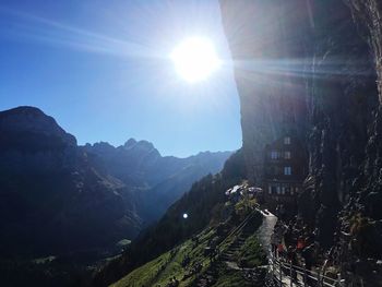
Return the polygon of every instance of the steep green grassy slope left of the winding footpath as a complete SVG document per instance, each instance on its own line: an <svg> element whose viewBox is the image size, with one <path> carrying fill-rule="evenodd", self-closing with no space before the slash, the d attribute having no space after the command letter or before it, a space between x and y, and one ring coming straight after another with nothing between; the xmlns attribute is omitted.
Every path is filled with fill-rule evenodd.
<svg viewBox="0 0 382 287"><path fill-rule="evenodd" d="M204 228L111 286L264 286L266 271L255 268L266 263L266 256L254 235L263 218L260 212L249 216Z"/></svg>

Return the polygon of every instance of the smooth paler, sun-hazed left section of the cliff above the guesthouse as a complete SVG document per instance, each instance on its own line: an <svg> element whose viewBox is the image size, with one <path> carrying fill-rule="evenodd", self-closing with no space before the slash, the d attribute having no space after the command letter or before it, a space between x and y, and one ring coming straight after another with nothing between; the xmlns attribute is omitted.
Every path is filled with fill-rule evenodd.
<svg viewBox="0 0 382 287"><path fill-rule="evenodd" d="M305 136L309 17L305 1L220 2L241 101L248 176L261 184L265 145L286 132Z"/></svg>

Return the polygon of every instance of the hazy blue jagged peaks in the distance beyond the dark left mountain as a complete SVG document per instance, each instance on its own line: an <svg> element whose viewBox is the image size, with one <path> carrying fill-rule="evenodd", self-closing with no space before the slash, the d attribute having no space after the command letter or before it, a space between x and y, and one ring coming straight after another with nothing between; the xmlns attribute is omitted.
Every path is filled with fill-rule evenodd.
<svg viewBox="0 0 382 287"><path fill-rule="evenodd" d="M186 158L163 157L152 143L134 139L118 147L102 142L86 144L83 150L94 166L134 192L139 201L136 212L145 223L159 218L193 182L220 171L231 154L204 152Z"/></svg>

